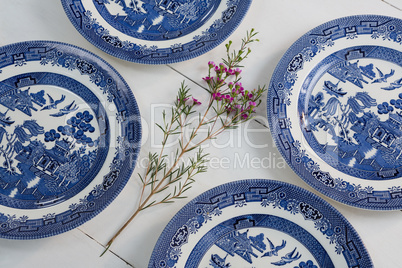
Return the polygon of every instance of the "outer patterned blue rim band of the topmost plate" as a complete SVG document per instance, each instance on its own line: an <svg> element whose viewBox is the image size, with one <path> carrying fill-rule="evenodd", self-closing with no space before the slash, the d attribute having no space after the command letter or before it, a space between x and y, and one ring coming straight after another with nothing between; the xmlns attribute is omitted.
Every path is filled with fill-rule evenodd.
<svg viewBox="0 0 402 268"><path fill-rule="evenodd" d="M194 36L188 43L180 43L180 39L177 39L177 43L171 47L158 47L157 41L154 46L148 47L141 43L134 44L120 40L110 35L106 26L100 25L92 17L91 11L85 10L82 0L61 0L61 2L75 28L99 49L126 61L169 64L198 57L226 40L240 25L252 0L227 0L227 9L221 18L209 25L202 35Z"/></svg>

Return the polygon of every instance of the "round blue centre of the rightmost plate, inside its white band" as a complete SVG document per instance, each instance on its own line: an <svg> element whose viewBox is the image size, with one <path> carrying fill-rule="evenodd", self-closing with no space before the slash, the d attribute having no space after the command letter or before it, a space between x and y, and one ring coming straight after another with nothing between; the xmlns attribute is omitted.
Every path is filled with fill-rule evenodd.
<svg viewBox="0 0 402 268"><path fill-rule="evenodd" d="M309 146L332 167L368 180L402 175L402 54L347 48L309 74L299 98Z"/></svg>

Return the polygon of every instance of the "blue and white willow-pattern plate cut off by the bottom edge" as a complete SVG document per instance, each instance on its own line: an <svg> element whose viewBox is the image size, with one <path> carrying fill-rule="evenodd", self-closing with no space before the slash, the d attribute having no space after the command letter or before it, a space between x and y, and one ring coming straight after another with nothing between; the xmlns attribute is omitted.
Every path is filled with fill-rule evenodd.
<svg viewBox="0 0 402 268"><path fill-rule="evenodd" d="M155 245L149 268L372 267L358 234L300 187L243 180L189 202Z"/></svg>

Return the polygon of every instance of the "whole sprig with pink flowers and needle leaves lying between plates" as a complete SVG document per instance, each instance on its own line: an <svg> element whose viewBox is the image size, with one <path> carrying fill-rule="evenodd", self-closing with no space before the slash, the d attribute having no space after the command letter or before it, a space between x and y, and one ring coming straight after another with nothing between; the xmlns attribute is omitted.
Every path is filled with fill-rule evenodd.
<svg viewBox="0 0 402 268"><path fill-rule="evenodd" d="M238 51L231 51L232 42L229 41L226 44L227 59L223 59L223 63L208 62L208 76L203 80L208 86L210 97L208 103L203 105L204 111L198 112L196 123L192 123L190 116L195 114L202 104L191 96L184 83L181 84L169 117L164 111L163 124L157 124L163 133L162 148L159 153L149 153L145 174L139 175L142 188L138 206L106 244L103 253L139 212L185 198L184 193L195 182L194 176L207 171L208 154L204 152L202 144L227 129L236 128L255 114L255 108L260 105L261 95L266 89L265 86L253 90L245 89L240 82L242 70L239 64L251 52L248 45L258 41L254 39L256 34L253 29L248 32ZM202 128L207 128L208 131L200 131ZM188 137L185 135L187 129L191 130ZM172 138L177 138L179 142L170 164L165 151L168 140Z"/></svg>

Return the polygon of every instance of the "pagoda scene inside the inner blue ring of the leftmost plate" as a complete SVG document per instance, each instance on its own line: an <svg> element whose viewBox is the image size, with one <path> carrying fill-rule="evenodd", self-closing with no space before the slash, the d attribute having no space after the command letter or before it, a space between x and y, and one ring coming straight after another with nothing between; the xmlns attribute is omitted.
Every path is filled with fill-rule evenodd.
<svg viewBox="0 0 402 268"><path fill-rule="evenodd" d="M33 201L30 208L54 204L86 177L99 142L92 111L78 111L76 100L64 94L35 88L0 97L0 193ZM40 116L59 125L48 129Z"/></svg>

